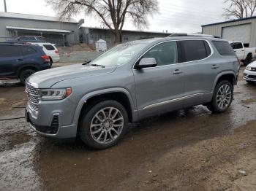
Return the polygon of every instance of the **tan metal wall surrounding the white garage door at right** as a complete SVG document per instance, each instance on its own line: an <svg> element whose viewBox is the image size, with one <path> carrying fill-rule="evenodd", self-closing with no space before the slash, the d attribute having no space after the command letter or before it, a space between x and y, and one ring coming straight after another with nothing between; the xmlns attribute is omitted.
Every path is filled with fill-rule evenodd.
<svg viewBox="0 0 256 191"><path fill-rule="evenodd" d="M220 23L212 26L202 26L202 33L222 37L222 28L225 28L228 26L239 26L244 24L252 25L249 44L250 44L250 47L256 47L256 18L238 20L232 23Z"/></svg>

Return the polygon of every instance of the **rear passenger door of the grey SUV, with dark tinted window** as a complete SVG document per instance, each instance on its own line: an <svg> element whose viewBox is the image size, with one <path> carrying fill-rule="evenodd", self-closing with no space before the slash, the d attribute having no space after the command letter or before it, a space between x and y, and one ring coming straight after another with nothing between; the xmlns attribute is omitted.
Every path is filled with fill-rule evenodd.
<svg viewBox="0 0 256 191"><path fill-rule="evenodd" d="M203 103L211 93L217 73L222 69L218 61L211 58L213 49L206 40L180 41L184 67L185 106Z"/></svg>

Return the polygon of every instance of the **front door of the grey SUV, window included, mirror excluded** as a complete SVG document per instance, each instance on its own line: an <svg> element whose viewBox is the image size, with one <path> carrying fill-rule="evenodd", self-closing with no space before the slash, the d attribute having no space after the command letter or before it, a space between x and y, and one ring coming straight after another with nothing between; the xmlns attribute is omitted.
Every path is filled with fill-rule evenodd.
<svg viewBox="0 0 256 191"><path fill-rule="evenodd" d="M182 66L178 64L177 43L157 44L142 58L155 58L157 66L134 70L139 117L182 108L184 82Z"/></svg>

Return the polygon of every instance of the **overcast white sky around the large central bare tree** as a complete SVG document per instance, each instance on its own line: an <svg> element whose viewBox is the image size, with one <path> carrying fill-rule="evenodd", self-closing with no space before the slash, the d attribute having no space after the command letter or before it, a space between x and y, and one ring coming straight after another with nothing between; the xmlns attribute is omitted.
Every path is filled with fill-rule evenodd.
<svg viewBox="0 0 256 191"><path fill-rule="evenodd" d="M56 16L56 12L49 7L45 0L6 0L8 12L18 12L34 15ZM159 0L159 14L148 17L149 26L145 31L168 32L200 32L201 25L225 20L222 17L224 0ZM0 11L4 11L4 0L0 0ZM99 20L95 20L83 12L74 16L75 20L85 19L84 26L102 27ZM124 29L138 30L130 22Z"/></svg>

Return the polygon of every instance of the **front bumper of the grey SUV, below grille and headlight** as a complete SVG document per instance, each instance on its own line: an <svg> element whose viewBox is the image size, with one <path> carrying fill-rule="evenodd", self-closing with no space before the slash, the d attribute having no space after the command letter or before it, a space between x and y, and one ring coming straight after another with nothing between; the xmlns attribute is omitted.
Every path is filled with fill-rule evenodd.
<svg viewBox="0 0 256 191"><path fill-rule="evenodd" d="M65 120L67 120L67 115L64 114L64 111L61 111L61 109L50 111L50 107L48 106L49 104L47 103L42 104L39 112L32 109L29 104L26 106L25 117L26 121L30 123L30 127L40 135L46 137L56 139L75 138L77 136L77 125L64 125Z"/></svg>

